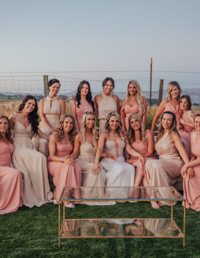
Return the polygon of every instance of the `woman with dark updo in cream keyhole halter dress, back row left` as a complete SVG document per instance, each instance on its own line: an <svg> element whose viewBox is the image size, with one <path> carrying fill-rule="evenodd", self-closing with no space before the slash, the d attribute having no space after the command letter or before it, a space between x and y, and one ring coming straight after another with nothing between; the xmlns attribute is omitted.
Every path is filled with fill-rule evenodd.
<svg viewBox="0 0 200 258"><path fill-rule="evenodd" d="M47 83L49 94L47 97L39 101L39 114L41 121L39 123L40 130L48 137L50 133L55 131L59 119L63 116L66 110L64 99L57 96L60 83L58 79L50 79ZM32 138L32 143L36 150L48 156L48 140L40 138L38 135Z"/></svg>

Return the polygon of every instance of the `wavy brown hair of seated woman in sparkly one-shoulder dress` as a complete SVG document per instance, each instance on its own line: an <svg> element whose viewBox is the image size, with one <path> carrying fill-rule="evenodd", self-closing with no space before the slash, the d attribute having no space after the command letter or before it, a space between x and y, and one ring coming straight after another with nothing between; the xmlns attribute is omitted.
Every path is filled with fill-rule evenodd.
<svg viewBox="0 0 200 258"><path fill-rule="evenodd" d="M176 129L176 118L175 118L175 114L173 113L173 112L171 112L171 111L165 111L165 112L163 112L163 114L162 114L162 116L161 116L161 119L160 119L160 123L159 123L159 126L158 126L158 134L157 134L157 137L156 137L156 140L155 140L155 144L157 143L157 141L163 136L163 134L164 134L164 128L163 128L163 126L162 126L162 118L163 118L163 115L164 114L171 114L172 115L172 124L171 124L171 126L170 126L170 128L169 128L169 132L168 132L168 135L169 135L169 137L170 137L170 139L171 139L171 137L172 137L172 134L173 134L173 132L175 132L179 137L180 137L180 135L179 135L179 133L178 133L178 131L177 131L177 129ZM155 145L154 144L154 145Z"/></svg>

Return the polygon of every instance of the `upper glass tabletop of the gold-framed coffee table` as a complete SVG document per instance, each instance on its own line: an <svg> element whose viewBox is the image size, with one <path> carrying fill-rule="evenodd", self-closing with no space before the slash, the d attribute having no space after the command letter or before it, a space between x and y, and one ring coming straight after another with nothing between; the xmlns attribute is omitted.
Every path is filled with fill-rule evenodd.
<svg viewBox="0 0 200 258"><path fill-rule="evenodd" d="M60 201L182 201L183 196L173 186L105 186L63 187Z"/></svg>

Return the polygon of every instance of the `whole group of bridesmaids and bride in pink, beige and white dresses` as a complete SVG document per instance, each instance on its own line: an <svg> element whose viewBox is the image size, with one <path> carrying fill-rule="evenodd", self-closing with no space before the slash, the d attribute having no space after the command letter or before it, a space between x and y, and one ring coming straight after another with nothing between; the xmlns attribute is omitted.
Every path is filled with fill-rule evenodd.
<svg viewBox="0 0 200 258"><path fill-rule="evenodd" d="M70 114L65 114L65 102L57 96L59 80L50 79L49 95L39 101L40 123L31 95L9 119L0 115L0 214L22 204L56 204L64 186L169 186L180 175L186 207L200 210L200 114L191 110L188 95L180 96L178 82L167 84L151 130L145 129L147 102L136 80L129 81L121 105L111 77L102 87L92 100L89 82L81 81L70 100ZM159 159L153 156L154 149ZM53 177L53 192L48 175ZM108 197L115 199L121 188L107 189ZM131 197L126 190L123 194ZM105 198L103 187L85 188L83 198L89 197ZM153 208L164 204L169 203L151 201ZM71 202L65 205L74 207Z"/></svg>

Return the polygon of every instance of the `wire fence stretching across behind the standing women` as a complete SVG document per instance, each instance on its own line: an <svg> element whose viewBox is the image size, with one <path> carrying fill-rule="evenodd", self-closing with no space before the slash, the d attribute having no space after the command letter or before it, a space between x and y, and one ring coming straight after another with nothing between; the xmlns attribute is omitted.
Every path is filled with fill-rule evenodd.
<svg viewBox="0 0 200 258"><path fill-rule="evenodd" d="M145 74L146 76L137 76L139 73ZM147 74L148 72L148 74ZM168 78L163 78L163 73L168 72ZM163 84L163 95L166 95L166 86L168 81L174 80L174 75L170 76L171 73L180 73L176 79L181 85L182 94L188 94L191 97L192 103L200 103L200 83L198 81L200 72L189 72L189 71L153 71L153 74L160 75L157 77L152 76L152 90L151 98L157 99L159 92L159 80L164 79ZM69 74L71 73L71 74ZM99 73L102 73L99 76ZM160 73L160 74L159 74ZM182 74L184 73L184 74ZM70 97L75 95L77 86L80 80L86 79L90 83L91 92L94 96L98 92L102 91L102 79L104 77L111 76L114 78L115 87L114 93L119 96L120 99L125 97L128 81L136 79L141 87L142 94L149 98L149 84L150 79L148 77L149 71L147 70L121 70L121 71L56 71L56 72L0 72L0 94L5 95L43 95L43 74L48 75L48 79L57 78L60 80L60 95ZM106 74L104 76L104 74ZM185 81L185 74L190 74L191 80ZM162 75L162 76L161 76ZM99 78L99 79L96 79ZM193 78L193 79L192 79Z"/></svg>

